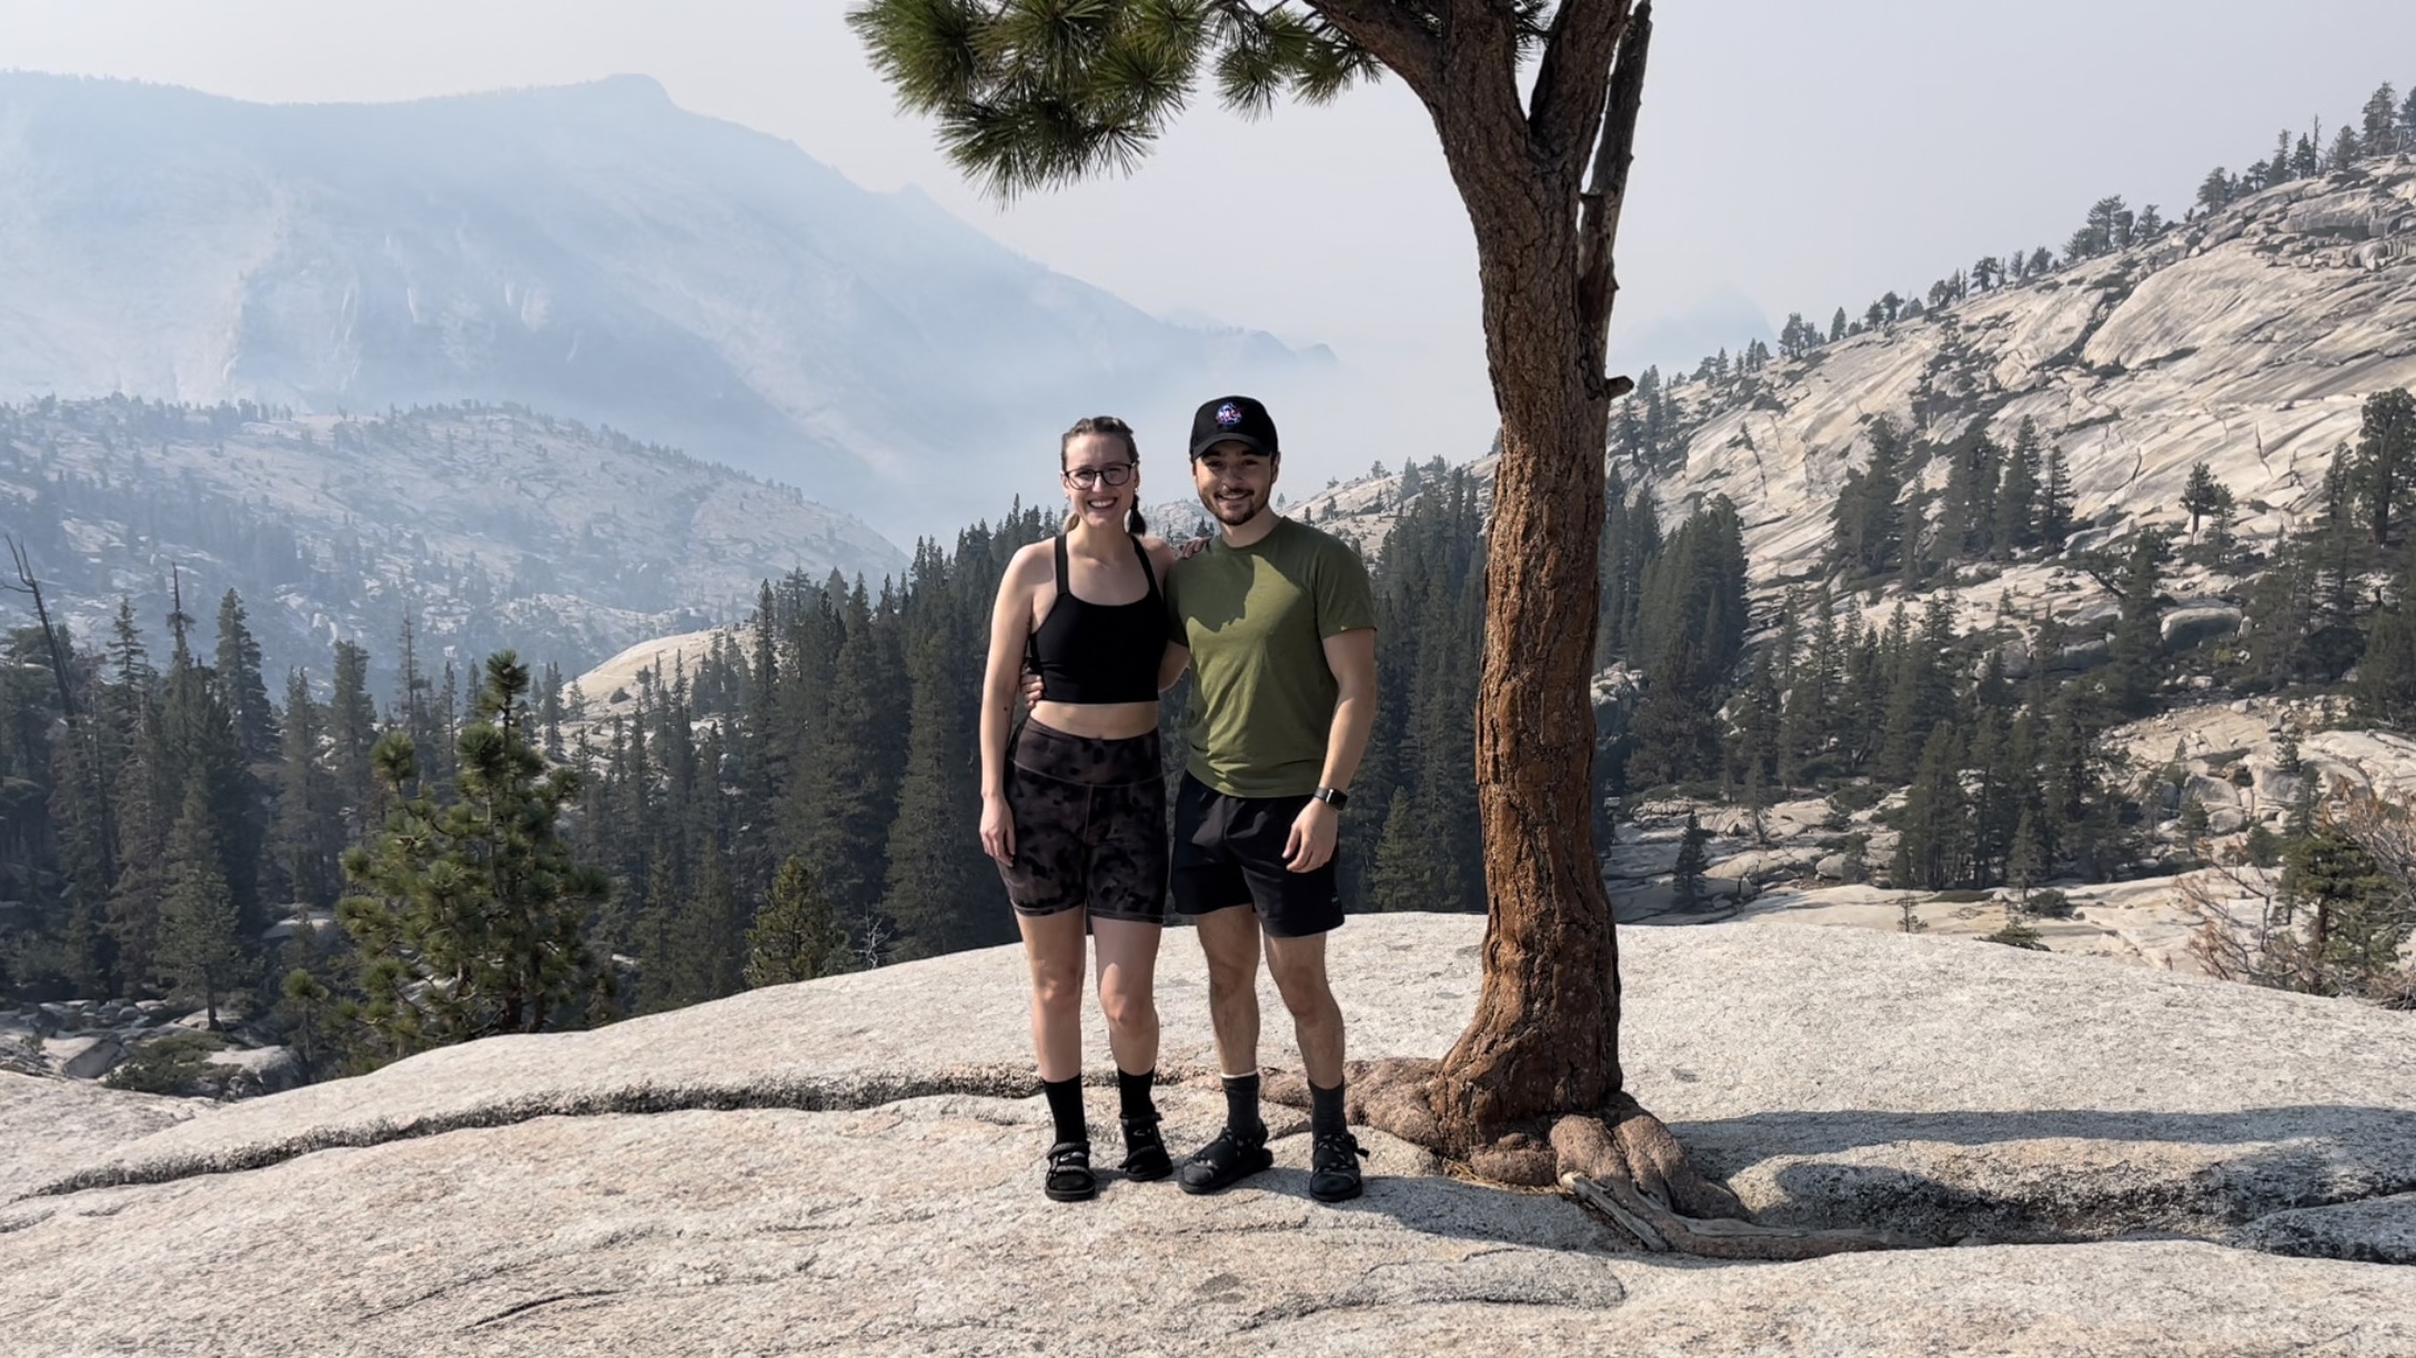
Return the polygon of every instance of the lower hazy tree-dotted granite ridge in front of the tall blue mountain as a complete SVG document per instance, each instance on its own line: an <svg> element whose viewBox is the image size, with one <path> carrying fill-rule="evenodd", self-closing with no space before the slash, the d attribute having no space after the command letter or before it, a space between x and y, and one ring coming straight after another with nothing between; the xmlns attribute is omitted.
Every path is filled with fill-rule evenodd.
<svg viewBox="0 0 2416 1358"><path fill-rule="evenodd" d="M176 585L208 648L234 590L268 674L321 679L336 640L391 674L406 619L428 672L515 648L577 674L742 619L766 578L906 568L790 486L517 406L0 406L0 524L85 648L121 599L157 645ZM0 599L0 626L31 623L27 599Z"/></svg>

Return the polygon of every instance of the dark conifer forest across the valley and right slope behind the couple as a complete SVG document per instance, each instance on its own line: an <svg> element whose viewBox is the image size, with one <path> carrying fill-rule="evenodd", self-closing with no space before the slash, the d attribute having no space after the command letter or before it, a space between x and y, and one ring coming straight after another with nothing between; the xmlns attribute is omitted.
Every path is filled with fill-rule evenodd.
<svg viewBox="0 0 2416 1358"><path fill-rule="evenodd" d="M2286 133L2269 159L2215 169L2184 220L2404 143L2416 94L2385 87L2329 145ZM2208 826L2189 778L2141 776L2112 730L2208 689L2416 727L2406 389L2363 396L2312 512L2278 536L2240 534L2264 505L2203 462L2182 491L2186 524L2107 532L2056 430L2027 418L1952 420L1950 437L1918 418L1863 420L1817 507L1817 568L1778 587L1752 585L1737 503L1715 493L1679 512L1655 493L1706 418L1771 401L1773 365L2174 230L2153 205L2104 198L2061 254L1981 256L1926 295L1887 292L1826 324L1790 314L1776 353L1752 341L1694 372L1645 370L1614 406L1595 544L1597 831L1616 843L1638 807L1686 802L1679 909L1703 901L1694 807L1759 826L1781 802L1822 797L1841 814L1884 805L1894 831L1870 858L1868 836L1839 838L1848 880L2005 892L2017 909L1998 942L2022 945L2025 916L2061 906L2051 884L2184 870L2150 843L2155 826ZM266 413L145 418L234 428ZM27 464L10 433L24 428L0 420L7 466ZM1440 457L1372 481L1360 524L1343 527L1370 558L1382 693L1343 812L1346 909L1483 911L1471 722L1491 481ZM130 486L53 486L114 495L130 520L167 505ZM210 1027L222 1008L266 1017L326 1078L1015 940L974 829L974 722L998 578L1056 532L1053 507L925 539L887 578L766 580L698 660L587 693L551 660L488 645L507 633L500 614L481 623L478 655L430 648L401 609L394 636L288 648L300 660L271 665L256 599L186 597L172 580L164 609L128 597L80 636L60 597L77 541L39 500L7 505L0 1000L169 998ZM273 558L263 570L309 556L210 512L227 556ZM2068 631L2068 609L2010 599L1991 611L1991 592L1962 585L2044 561L2095 585L2104 626ZM2184 568L2237 580L2235 626L2191 631L2170 594ZM1169 771L1181 713L1177 686L1162 703ZM2416 911L2375 822L2327 809L2315 778L2298 788L2286 829L2247 826L2242 853L2322 923L2290 935L2298 954L2242 969L2363 993L2402 971Z"/></svg>

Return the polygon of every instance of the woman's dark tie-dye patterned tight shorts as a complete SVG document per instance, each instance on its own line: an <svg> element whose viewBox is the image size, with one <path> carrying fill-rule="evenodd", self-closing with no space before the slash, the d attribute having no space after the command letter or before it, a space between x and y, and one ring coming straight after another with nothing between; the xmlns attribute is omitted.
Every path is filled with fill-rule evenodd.
<svg viewBox="0 0 2416 1358"><path fill-rule="evenodd" d="M1157 732L1092 739L1027 720L1007 747L1015 863L998 870L1024 916L1090 909L1167 923L1167 771Z"/></svg>

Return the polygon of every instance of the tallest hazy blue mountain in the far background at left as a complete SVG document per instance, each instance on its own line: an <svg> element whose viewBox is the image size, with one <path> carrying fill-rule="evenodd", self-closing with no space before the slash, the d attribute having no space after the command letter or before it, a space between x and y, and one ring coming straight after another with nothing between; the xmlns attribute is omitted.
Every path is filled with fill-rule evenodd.
<svg viewBox="0 0 2416 1358"><path fill-rule="evenodd" d="M904 532L993 452L1317 367L1148 317L645 77L242 104L0 75L0 399L517 401Z"/></svg>

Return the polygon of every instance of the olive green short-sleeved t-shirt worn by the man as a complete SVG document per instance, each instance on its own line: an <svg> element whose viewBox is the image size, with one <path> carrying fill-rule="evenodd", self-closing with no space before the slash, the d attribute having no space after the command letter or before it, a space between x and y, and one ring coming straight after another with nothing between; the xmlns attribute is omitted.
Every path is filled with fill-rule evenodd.
<svg viewBox="0 0 2416 1358"><path fill-rule="evenodd" d="M1227 797L1317 790L1341 684L1324 640L1375 626L1375 590L1351 544L1297 520L1249 546L1167 570L1174 645L1191 648L1191 776Z"/></svg>

